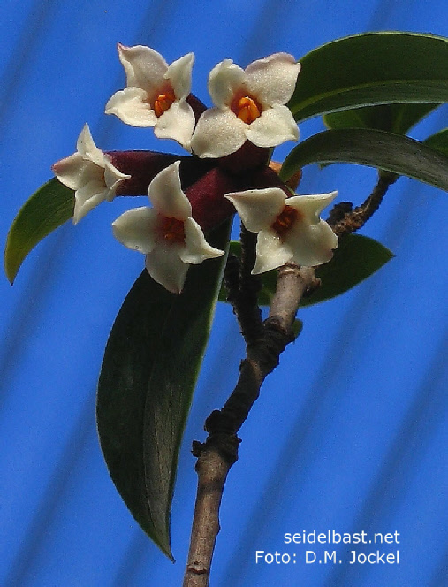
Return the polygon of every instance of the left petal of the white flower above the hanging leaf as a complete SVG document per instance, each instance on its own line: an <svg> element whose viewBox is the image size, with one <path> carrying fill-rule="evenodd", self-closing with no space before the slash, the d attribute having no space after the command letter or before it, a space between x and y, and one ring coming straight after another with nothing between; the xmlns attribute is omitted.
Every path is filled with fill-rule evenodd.
<svg viewBox="0 0 448 587"><path fill-rule="evenodd" d="M156 210L144 206L127 210L112 223L114 237L125 247L140 253L149 253L156 246Z"/></svg>

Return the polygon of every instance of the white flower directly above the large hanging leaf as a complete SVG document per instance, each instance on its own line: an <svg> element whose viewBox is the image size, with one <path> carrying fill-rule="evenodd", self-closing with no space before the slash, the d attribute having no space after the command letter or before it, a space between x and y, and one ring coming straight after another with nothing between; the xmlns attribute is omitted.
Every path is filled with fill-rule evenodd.
<svg viewBox="0 0 448 587"><path fill-rule="evenodd" d="M149 275L173 294L180 294L189 264L224 255L210 247L180 187L179 162L158 173L148 188L153 208L128 210L112 223L116 239L146 255Z"/></svg>

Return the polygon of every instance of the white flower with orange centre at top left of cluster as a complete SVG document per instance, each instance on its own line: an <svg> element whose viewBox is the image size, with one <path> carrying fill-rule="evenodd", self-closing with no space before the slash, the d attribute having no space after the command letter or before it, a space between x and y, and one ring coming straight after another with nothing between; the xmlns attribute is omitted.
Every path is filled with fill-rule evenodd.
<svg viewBox="0 0 448 587"><path fill-rule="evenodd" d="M187 53L168 65L160 53L143 45L118 43L125 68L126 88L112 95L106 114L127 125L154 126L160 139L174 139L190 150L194 112L186 103L190 94L194 54Z"/></svg>

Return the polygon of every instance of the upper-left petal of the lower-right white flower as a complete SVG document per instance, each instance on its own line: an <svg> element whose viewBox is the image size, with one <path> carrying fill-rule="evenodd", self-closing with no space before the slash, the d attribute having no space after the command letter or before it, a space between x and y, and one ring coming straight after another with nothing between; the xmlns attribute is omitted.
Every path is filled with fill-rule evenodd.
<svg viewBox="0 0 448 587"><path fill-rule="evenodd" d="M279 187L249 189L246 192L226 194L251 233L269 228L285 207L285 192Z"/></svg>

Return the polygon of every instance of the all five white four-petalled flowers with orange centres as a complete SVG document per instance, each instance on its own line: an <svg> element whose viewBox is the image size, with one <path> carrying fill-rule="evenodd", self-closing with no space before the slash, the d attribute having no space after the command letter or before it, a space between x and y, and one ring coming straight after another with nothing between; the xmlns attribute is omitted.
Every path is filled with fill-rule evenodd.
<svg viewBox="0 0 448 587"><path fill-rule="evenodd" d="M178 141L194 156L231 155L246 141L272 148L297 141L298 127L285 105L292 97L300 64L291 55L276 53L248 65L246 70L224 59L209 74L209 94L215 106L202 112L197 124L188 97L194 54L168 65L148 47L118 44L126 87L112 95L106 114L132 126L152 126L159 138ZM75 190L73 222L98 203L111 201L118 187L130 179L95 146L84 126L77 152L53 170ZM338 238L319 213L335 197L331 194L286 197L278 187L226 194L247 230L258 233L253 273L275 269L288 261L315 266L330 260ZM189 264L224 255L210 247L183 193L179 163L168 165L148 187L152 208L128 210L113 223L115 237L126 247L146 255L149 274L173 293L180 293Z"/></svg>

